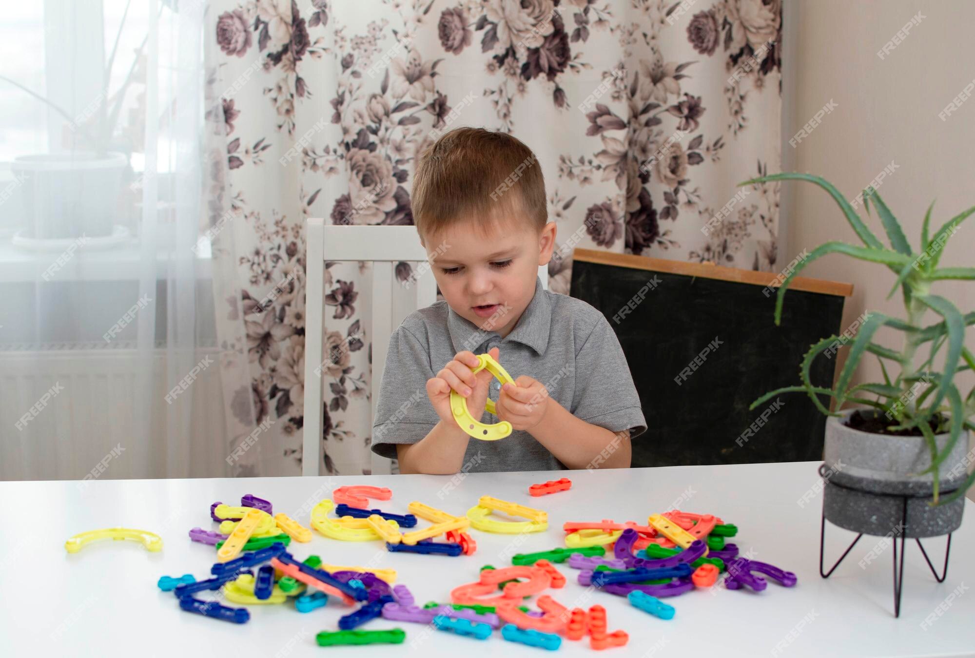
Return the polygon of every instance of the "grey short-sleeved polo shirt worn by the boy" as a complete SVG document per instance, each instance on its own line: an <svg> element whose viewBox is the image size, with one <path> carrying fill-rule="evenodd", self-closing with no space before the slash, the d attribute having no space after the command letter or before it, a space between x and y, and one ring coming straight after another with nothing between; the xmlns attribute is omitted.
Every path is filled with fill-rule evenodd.
<svg viewBox="0 0 975 658"><path fill-rule="evenodd" d="M415 444L440 421L426 394L427 379L437 375L463 350L484 354L498 347L501 364L513 379L527 375L548 389L549 397L587 423L611 432L646 430L640 398L623 349L603 314L582 301L542 288L535 293L515 329L506 338L478 329L457 315L446 301L409 314L390 336L379 403L372 426L372 449L396 457L394 444ZM500 382L487 396L496 401ZM476 414L475 414L476 415ZM483 423L498 422L484 411ZM566 437L571 441L571 437ZM471 439L464 471L545 471L565 466L527 432L514 430L499 441Z"/></svg>

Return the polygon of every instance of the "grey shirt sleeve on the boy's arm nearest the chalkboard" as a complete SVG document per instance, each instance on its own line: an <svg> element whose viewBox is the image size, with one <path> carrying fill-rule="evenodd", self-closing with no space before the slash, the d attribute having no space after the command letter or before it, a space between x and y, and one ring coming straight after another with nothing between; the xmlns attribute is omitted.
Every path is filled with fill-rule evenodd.
<svg viewBox="0 0 975 658"><path fill-rule="evenodd" d="M619 339L602 314L575 357L572 414L610 432L630 430L630 439L646 431L640 396Z"/></svg>

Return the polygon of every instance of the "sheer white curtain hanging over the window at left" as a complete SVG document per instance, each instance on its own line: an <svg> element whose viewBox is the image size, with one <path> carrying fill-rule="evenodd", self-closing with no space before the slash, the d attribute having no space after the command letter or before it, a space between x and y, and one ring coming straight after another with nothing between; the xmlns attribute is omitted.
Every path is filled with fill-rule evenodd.
<svg viewBox="0 0 975 658"><path fill-rule="evenodd" d="M201 240L212 212L206 4L4 10L4 480L239 472L231 449L254 430L235 373L242 324L217 322L215 291L233 284Z"/></svg>

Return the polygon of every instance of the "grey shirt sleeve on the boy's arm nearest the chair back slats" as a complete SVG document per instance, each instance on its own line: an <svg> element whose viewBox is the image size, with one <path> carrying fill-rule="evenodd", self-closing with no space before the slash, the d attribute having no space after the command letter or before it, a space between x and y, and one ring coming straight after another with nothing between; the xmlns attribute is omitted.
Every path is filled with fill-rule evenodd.
<svg viewBox="0 0 975 658"><path fill-rule="evenodd" d="M395 459L396 444L415 444L440 422L426 394L432 376L426 347L401 325L389 337L372 419L373 452Z"/></svg>

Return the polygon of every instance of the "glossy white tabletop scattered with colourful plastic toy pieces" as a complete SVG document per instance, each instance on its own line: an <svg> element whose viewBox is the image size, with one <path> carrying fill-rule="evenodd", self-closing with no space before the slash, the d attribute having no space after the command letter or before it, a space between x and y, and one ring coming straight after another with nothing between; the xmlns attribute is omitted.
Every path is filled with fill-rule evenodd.
<svg viewBox="0 0 975 658"><path fill-rule="evenodd" d="M315 635L336 630L349 608L337 602L301 614L293 604L251 606L251 621L236 625L179 609L172 593L156 587L159 576L193 573L207 577L215 561L213 547L191 542L194 526L212 528L210 505L239 504L245 493L267 498L275 511L305 509L335 486L377 484L393 489L393 500L376 503L384 511L406 513L419 500L453 514L463 514L481 495L492 495L549 513L548 531L523 535L511 551L511 535L472 530L476 555L459 558L391 554L378 542L346 543L315 534L311 543L292 542L298 559L317 554L329 563L393 567L397 582L409 585L418 603L447 601L450 590L477 580L483 564L502 566L502 555L564 546L566 521L636 521L678 507L715 514L739 527L732 540L753 559L795 571L792 589L769 581L751 591L693 591L669 599L677 608L671 621L651 617L622 598L587 590L575 582L577 571L560 568L569 579L563 590L548 594L565 605L602 603L610 630L623 629L630 642L610 653L633 656L958 656L975 655L975 593L962 593L927 630L926 616L959 585L975 585L975 509L955 534L948 579L937 584L913 541L904 567L900 619L892 614L891 549L866 568L858 561L877 544L865 536L829 580L818 574L820 497L798 501L818 481L818 462L739 466L687 466L659 469L576 471L564 474L499 473L455 477L385 476L348 478L254 478L220 480L97 481L80 488L74 482L0 483L4 535L0 545L0 655L3 656L179 656L222 655L284 658L304 655L453 656L503 651L506 656L539 656L542 649L505 641L495 632L482 642L426 627L375 620L364 629L399 626L407 631L400 645L319 647ZM565 475L572 489L541 498L527 494L529 484ZM459 482L457 482L459 480ZM440 495L438 495L440 492ZM308 513L298 519L308 523ZM424 522L420 522L420 526ZM101 527L125 526L160 534L161 553L148 553L135 542L102 541L70 555L69 536ZM830 524L828 565L852 540L852 533ZM936 563L944 539L925 547ZM206 598L206 597L201 597ZM580 600L581 598L581 600ZM802 620L805 619L804 625ZM411 641L422 639L418 646ZM489 642L489 643L488 643ZM692 642L692 646L683 646ZM779 648L776 650L776 645ZM564 640L560 655L595 655L588 641Z"/></svg>

